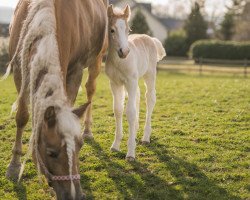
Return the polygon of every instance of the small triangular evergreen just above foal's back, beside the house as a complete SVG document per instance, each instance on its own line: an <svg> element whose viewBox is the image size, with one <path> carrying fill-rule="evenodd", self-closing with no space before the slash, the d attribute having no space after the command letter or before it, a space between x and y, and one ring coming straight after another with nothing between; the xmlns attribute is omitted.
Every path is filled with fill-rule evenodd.
<svg viewBox="0 0 250 200"><path fill-rule="evenodd" d="M138 10L131 22L132 33L151 35L151 30L148 26L145 16Z"/></svg>

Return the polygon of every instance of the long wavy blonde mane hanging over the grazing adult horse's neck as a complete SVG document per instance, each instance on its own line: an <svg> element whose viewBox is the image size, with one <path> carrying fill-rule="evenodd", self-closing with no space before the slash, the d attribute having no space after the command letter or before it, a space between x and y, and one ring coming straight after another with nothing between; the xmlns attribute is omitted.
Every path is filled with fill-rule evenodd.
<svg viewBox="0 0 250 200"><path fill-rule="evenodd" d="M27 21L29 20L29 21ZM23 34L23 35L22 35ZM22 27L23 38L21 49L22 86L20 95L30 94L32 106L32 135L29 143L29 154L37 152L38 138L46 108L58 108L57 126L67 145L69 175L72 175L75 137L80 137L80 123L71 112L63 85L59 60L59 49L56 40L56 18L53 0L32 0L27 19ZM30 47L39 40L36 53L29 62ZM39 73L45 71L41 84L37 87ZM52 91L49 96L48 91ZM39 163L39 162L38 162ZM39 164L38 170L40 171ZM22 173L22 170L21 170ZM21 175L21 174L20 174ZM71 181L72 196L75 196L74 184Z"/></svg>

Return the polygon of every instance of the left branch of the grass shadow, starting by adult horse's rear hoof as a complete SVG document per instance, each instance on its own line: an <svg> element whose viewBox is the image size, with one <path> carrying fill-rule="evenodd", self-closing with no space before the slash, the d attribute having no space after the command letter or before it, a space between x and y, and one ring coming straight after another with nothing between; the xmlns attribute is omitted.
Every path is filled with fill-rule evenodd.
<svg viewBox="0 0 250 200"><path fill-rule="evenodd" d="M181 199L179 191L175 190L168 182L156 176L148 169L146 164L131 162L132 169L125 169L124 166L114 162L105 153L102 147L95 141L88 141L94 153L108 172L108 177L112 179L117 190L120 192L117 199ZM117 153L114 156L120 159L125 158L125 154ZM131 168L130 167L130 168ZM84 188L85 186L85 182ZM92 199L93 196L87 196Z"/></svg>

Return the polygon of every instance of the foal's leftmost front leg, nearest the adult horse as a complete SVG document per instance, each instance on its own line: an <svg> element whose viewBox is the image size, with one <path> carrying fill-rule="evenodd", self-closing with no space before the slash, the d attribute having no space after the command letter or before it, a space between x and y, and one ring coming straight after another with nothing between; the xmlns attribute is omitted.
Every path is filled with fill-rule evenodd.
<svg viewBox="0 0 250 200"><path fill-rule="evenodd" d="M113 82L110 82L110 86L113 93L113 110L116 122L115 140L111 146L111 151L119 151L120 143L123 137L122 115L124 110L125 91L123 85L117 85Z"/></svg>

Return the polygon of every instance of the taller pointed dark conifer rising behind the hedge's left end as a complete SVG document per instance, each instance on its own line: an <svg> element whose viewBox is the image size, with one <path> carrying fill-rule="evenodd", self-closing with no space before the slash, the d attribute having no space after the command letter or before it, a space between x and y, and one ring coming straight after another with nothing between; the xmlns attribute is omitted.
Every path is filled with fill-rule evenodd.
<svg viewBox="0 0 250 200"><path fill-rule="evenodd" d="M190 46L197 40L207 39L207 27L207 22L200 12L200 6L198 3L195 3L184 26L187 44Z"/></svg>

